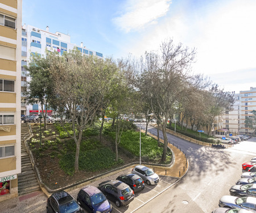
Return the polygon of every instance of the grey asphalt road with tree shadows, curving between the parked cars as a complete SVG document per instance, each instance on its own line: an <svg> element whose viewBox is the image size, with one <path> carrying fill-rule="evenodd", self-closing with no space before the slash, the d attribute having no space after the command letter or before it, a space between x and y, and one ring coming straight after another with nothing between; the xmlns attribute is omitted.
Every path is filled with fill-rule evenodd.
<svg viewBox="0 0 256 213"><path fill-rule="evenodd" d="M156 133L156 129L149 127ZM212 212L223 195L242 173L242 163L256 156L256 138L242 141L229 149L202 147L168 134L168 140L184 151L189 170L181 181L164 191L138 212Z"/></svg>

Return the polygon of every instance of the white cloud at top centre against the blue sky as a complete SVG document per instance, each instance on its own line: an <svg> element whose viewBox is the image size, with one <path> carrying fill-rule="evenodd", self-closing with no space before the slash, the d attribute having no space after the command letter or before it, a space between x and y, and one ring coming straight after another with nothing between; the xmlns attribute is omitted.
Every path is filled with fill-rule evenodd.
<svg viewBox="0 0 256 213"><path fill-rule="evenodd" d="M113 22L125 32L140 30L148 24L156 24L156 19L166 15L170 0L128 0L125 12Z"/></svg>

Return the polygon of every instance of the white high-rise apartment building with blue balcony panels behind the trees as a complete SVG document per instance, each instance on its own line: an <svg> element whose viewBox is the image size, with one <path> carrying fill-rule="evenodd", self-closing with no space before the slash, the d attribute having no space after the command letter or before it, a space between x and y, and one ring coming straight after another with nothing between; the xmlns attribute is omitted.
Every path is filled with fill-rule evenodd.
<svg viewBox="0 0 256 213"><path fill-rule="evenodd" d="M26 81L30 79L26 78L26 69L24 69L24 65L28 65L31 54L38 53L40 55L46 55L46 51L57 51L59 55L63 55L65 51L69 51L73 48L77 48L82 55L94 55L97 57L103 57L102 53L92 51L84 47L81 42L80 45L71 43L71 36L67 34L63 34L61 32L49 32L49 27L46 27L46 30L40 29L38 27L30 26L24 24L22 26L22 61L21 61L21 69L22 69L22 90L25 89L24 85ZM22 95L24 98L24 95ZM38 103L34 105L26 106L22 103L21 112L24 115L28 114L39 114L42 109ZM48 114L51 114L51 110L48 111Z"/></svg>

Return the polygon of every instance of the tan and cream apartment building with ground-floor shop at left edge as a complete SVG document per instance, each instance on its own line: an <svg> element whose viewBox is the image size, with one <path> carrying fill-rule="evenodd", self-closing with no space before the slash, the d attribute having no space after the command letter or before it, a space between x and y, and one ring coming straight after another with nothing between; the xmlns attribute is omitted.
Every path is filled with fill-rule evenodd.
<svg viewBox="0 0 256 213"><path fill-rule="evenodd" d="M22 0L0 0L0 201L18 196Z"/></svg>

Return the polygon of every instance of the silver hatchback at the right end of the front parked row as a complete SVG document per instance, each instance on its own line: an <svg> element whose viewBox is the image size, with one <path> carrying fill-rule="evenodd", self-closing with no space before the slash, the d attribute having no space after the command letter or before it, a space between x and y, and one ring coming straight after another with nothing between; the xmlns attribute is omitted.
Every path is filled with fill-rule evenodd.
<svg viewBox="0 0 256 213"><path fill-rule="evenodd" d="M131 173L137 174L139 177L143 179L147 185L155 185L159 182L158 174L154 173L152 169L148 168L147 166L138 165L131 170Z"/></svg>

